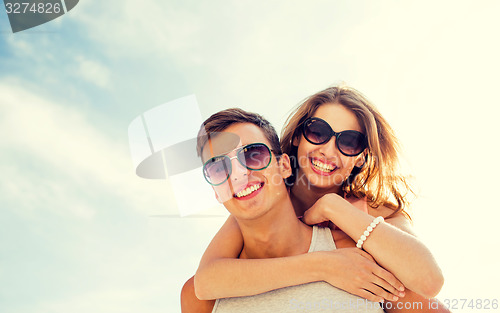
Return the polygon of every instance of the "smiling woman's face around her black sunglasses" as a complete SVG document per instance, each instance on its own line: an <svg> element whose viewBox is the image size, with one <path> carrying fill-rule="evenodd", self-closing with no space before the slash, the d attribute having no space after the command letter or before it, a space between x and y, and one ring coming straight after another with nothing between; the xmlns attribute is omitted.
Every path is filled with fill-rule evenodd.
<svg viewBox="0 0 500 313"><path fill-rule="evenodd" d="M321 105L313 115L325 120L335 132L356 130L363 132L356 115L344 106L336 103ZM338 192L344 180L355 165L363 164L364 154L349 157L343 155L332 137L322 145L308 142L301 132L293 144L298 145L297 158L299 171L296 183L305 183L308 187L325 189L325 192ZM302 182L300 182L303 180Z"/></svg>

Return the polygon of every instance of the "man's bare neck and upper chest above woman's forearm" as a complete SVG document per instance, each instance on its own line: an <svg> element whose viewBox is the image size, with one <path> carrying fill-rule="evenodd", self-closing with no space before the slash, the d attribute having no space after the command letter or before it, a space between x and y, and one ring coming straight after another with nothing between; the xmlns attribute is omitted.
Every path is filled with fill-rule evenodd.
<svg viewBox="0 0 500 313"><path fill-rule="evenodd" d="M306 253L312 228L297 219L290 198L251 221L238 221L243 234L240 258L277 258Z"/></svg>

